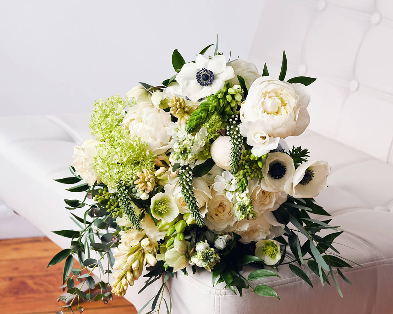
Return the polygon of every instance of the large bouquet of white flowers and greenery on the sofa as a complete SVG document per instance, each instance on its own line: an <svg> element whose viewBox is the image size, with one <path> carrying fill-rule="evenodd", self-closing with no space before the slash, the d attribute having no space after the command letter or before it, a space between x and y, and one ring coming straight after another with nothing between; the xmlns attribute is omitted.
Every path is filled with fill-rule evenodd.
<svg viewBox="0 0 393 314"><path fill-rule="evenodd" d="M307 128L306 86L315 79L285 80L285 51L276 79L266 64L260 74L252 63L227 60L218 38L206 57L211 46L187 63L174 50L176 73L161 86L140 83L125 98L94 103L95 139L75 146L72 176L57 180L78 183L70 192L85 192L82 201L64 200L79 230L55 231L71 239L70 248L48 265L65 259L62 288L70 296L59 298L68 301L63 311L73 312L77 302L82 312L80 299L108 303L143 276L143 289L162 281L149 301L151 312L164 309L164 300L169 313L165 298L158 300L167 280L196 268L240 296L252 289L279 298L253 281L279 277L284 264L311 286L304 267L322 285L330 285L330 275L341 296L336 276L350 283L340 270L351 267L349 260L333 246L342 232L313 199L327 187L328 163L279 143ZM84 213L73 214L79 208ZM80 268L72 268L74 258ZM246 264L255 267L247 275ZM100 273L98 282L93 271ZM93 296L95 287L100 293Z"/></svg>

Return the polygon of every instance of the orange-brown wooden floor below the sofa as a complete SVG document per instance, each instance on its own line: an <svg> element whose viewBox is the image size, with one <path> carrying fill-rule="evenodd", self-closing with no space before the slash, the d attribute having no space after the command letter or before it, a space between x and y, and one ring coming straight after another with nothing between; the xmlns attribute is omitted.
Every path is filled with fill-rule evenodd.
<svg viewBox="0 0 393 314"><path fill-rule="evenodd" d="M63 293L59 287L64 263L46 268L59 251L61 248L46 237L0 240L1 313L54 314L60 310L64 302L57 302L57 298ZM106 305L101 301L79 304L87 314L137 312L131 303L116 297Z"/></svg>

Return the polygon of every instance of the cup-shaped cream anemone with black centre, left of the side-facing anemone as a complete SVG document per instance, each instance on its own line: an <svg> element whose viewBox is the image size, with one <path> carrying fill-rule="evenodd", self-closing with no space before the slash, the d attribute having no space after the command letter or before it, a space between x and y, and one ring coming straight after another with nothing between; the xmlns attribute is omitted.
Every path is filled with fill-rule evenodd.
<svg viewBox="0 0 393 314"><path fill-rule="evenodd" d="M268 192L287 192L294 172L292 157L286 153L269 153L262 167L261 187Z"/></svg>

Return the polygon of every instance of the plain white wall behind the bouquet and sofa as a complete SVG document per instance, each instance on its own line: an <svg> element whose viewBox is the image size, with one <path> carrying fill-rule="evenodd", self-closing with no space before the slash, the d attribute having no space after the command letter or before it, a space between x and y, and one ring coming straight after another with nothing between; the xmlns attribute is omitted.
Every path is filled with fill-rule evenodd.
<svg viewBox="0 0 393 314"><path fill-rule="evenodd" d="M262 0L0 2L0 115L90 111L215 42L246 59Z"/></svg>

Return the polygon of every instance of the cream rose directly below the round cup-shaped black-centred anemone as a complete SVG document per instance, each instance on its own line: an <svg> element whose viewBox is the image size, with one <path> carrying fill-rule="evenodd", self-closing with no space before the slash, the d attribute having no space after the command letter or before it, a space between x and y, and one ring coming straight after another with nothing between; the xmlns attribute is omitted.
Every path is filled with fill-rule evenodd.
<svg viewBox="0 0 393 314"><path fill-rule="evenodd" d="M276 210L288 198L286 192L268 192L263 190L260 181L256 179L249 181L248 186L252 204L258 214L263 214L266 210L270 212Z"/></svg>

